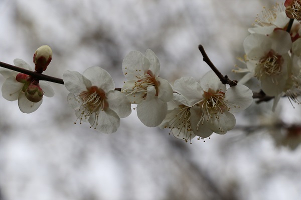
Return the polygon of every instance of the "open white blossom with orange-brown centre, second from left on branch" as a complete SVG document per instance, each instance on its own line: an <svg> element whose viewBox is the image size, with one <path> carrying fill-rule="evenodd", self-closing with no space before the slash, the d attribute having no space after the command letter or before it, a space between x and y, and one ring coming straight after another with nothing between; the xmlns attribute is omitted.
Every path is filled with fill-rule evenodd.
<svg viewBox="0 0 301 200"><path fill-rule="evenodd" d="M120 91L114 90L111 75L99 66L87 68L83 74L65 71L63 80L68 94L68 103L81 121L88 121L91 127L103 132L116 132L120 117L131 112L130 102Z"/></svg>

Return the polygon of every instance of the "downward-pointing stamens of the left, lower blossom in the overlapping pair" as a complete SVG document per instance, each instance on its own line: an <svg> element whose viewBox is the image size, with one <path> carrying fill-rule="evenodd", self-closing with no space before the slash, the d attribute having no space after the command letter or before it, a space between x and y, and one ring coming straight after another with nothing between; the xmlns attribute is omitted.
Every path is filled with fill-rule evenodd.
<svg viewBox="0 0 301 200"><path fill-rule="evenodd" d="M188 142L191 141L192 137L192 129L190 123L190 108L186 105L179 105L179 112L168 122L169 127L165 126L165 128L170 128L173 135L179 137L180 134L183 134L183 139ZM176 128L176 130L174 129Z"/></svg>

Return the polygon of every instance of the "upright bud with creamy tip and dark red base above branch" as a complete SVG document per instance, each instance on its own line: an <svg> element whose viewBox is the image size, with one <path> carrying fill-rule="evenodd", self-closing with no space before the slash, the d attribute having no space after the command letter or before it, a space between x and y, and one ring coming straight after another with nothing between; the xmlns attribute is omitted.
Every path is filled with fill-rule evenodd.
<svg viewBox="0 0 301 200"><path fill-rule="evenodd" d="M48 64L52 59L52 50L48 45L40 46L34 54L35 70L42 73L47 69Z"/></svg>

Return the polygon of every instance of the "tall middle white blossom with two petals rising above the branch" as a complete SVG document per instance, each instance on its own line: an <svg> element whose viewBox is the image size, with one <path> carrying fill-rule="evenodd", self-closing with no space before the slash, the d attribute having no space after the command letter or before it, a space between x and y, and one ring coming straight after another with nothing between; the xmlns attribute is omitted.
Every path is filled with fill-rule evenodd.
<svg viewBox="0 0 301 200"><path fill-rule="evenodd" d="M167 114L167 102L173 98L170 83L159 77L160 62L147 49L129 52L123 59L122 71L128 79L121 88L133 104L137 104L138 118L149 127L159 125Z"/></svg>

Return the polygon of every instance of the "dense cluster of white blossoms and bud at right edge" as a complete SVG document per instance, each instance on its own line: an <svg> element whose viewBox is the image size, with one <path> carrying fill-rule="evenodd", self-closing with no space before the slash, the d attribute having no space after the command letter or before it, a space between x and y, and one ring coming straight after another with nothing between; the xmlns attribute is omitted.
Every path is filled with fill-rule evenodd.
<svg viewBox="0 0 301 200"><path fill-rule="evenodd" d="M254 27L248 29L251 34L243 43L247 68L233 70L247 72L238 82L241 84L256 77L262 91L274 96L273 109L281 96L300 103L297 96L301 93L301 26L288 17L297 16L291 11L296 11L299 3L299 0L286 0L286 8L276 4L257 16Z"/></svg>

